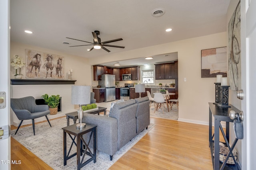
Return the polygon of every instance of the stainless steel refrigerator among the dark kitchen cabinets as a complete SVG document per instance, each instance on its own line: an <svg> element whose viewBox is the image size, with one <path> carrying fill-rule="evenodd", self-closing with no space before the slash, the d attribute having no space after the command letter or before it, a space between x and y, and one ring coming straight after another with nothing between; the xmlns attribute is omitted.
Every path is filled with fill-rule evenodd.
<svg viewBox="0 0 256 170"><path fill-rule="evenodd" d="M101 75L101 80L99 81L101 88L106 88L105 92L105 102L110 102L116 100L116 76L112 74Z"/></svg>

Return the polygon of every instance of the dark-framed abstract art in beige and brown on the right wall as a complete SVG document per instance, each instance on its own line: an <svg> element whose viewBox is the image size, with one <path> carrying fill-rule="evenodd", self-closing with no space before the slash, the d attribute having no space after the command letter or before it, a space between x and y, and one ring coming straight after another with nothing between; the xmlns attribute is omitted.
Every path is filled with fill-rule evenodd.
<svg viewBox="0 0 256 170"><path fill-rule="evenodd" d="M227 47L201 50L201 77L227 76Z"/></svg>

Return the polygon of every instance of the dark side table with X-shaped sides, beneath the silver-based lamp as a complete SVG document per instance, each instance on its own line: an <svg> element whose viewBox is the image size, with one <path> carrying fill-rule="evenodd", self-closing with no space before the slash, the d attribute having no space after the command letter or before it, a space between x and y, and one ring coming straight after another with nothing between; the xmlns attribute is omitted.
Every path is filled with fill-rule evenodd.
<svg viewBox="0 0 256 170"><path fill-rule="evenodd" d="M96 125L86 123L86 126L84 128L76 128L76 124L62 128L63 129L64 166L67 164L67 160L69 160L74 156L76 156L78 170L80 170L80 168L82 168L92 160L94 163L96 163L96 127L97 127ZM68 154L67 154L67 139L66 139L67 133L72 139L72 144L68 150ZM90 138L88 140L88 143L86 143L86 141L82 136L86 133L90 133ZM74 135L74 137L72 137L71 135ZM89 148L89 143L91 142L91 139L93 140L93 153ZM73 153L70 155L70 150L72 149L73 144L76 145L76 153ZM82 144L85 145L85 150L82 149ZM88 156L91 156L91 158L84 162L84 156L83 156L82 160L80 161L80 156L82 156L83 153L87 154Z"/></svg>

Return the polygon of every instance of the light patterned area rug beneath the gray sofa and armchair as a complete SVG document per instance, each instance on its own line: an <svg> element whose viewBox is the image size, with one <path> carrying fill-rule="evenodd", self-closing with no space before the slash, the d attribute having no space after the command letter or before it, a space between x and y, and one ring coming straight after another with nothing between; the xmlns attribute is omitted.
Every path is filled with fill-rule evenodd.
<svg viewBox="0 0 256 170"><path fill-rule="evenodd" d="M66 127L66 117L50 121L52 127L48 122L39 123L35 125L35 133L33 134L33 127L23 127L18 130L12 130L11 136L21 143L28 150L33 152L36 156L42 159L46 164L51 166L54 170L75 170L76 156L67 160L67 165L63 166L63 130ZM136 135L124 147L113 155L113 160L110 161L109 155L103 152L96 152L96 163L93 161L84 166L83 170L107 170L116 162L125 152L132 148L144 135L146 135L152 128L153 124L144 129L141 133ZM67 135L67 150L71 145L72 140ZM72 147L70 153L76 152L75 145ZM82 157L81 157L82 158Z"/></svg>

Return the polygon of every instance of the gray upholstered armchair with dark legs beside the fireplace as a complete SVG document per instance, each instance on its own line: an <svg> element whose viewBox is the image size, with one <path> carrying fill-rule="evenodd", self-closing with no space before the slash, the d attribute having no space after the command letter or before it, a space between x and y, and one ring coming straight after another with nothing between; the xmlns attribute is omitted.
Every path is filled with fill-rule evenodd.
<svg viewBox="0 0 256 170"><path fill-rule="evenodd" d="M50 113L49 106L48 105L36 105L35 98L32 96L24 97L24 98L11 98L11 107L16 116L19 120L21 120L20 125L22 124L23 120L29 120L32 119L32 125L33 125L33 131L35 135L35 122L34 119L38 117L45 116L50 127L52 125L50 124L50 121L47 117L47 115ZM15 132L18 132L20 125L18 129Z"/></svg>

